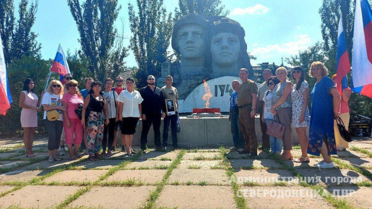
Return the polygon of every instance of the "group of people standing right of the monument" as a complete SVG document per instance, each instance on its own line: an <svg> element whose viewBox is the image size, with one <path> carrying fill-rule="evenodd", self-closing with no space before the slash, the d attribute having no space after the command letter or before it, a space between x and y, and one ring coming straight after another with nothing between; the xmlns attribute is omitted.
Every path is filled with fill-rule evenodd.
<svg viewBox="0 0 372 209"><path fill-rule="evenodd" d="M235 92L230 98L229 119L234 148L241 154L248 154L248 157L257 156L254 118L259 113L263 133L262 149L270 149L270 154L280 155L281 160L297 163L309 163L308 154L322 154L323 161L315 165L320 168L334 167L330 155L348 148L348 142L341 137L335 119L340 117L345 127L348 127L351 89L344 89L340 96L336 89L337 75L333 75L332 79L327 77L328 69L320 61L314 61L310 67L309 76L316 78L311 91L302 67L296 66L291 72L294 84L288 79L286 68L279 67L275 73L276 76L273 76L270 69L263 70L265 81L257 87L248 79L248 70L242 68L239 71L242 83L233 81ZM309 94L311 111L308 107ZM267 124L271 121L284 126L282 138L266 134ZM302 152L297 159L293 159L291 154L292 127L298 135Z"/></svg>

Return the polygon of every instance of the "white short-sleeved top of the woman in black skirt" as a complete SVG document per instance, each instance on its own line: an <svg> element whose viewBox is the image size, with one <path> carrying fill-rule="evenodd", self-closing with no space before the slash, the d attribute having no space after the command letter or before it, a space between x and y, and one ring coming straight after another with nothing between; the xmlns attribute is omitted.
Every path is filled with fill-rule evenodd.
<svg viewBox="0 0 372 209"><path fill-rule="evenodd" d="M120 93L118 101L123 103L123 118L140 117L138 104L141 104L143 99L139 91L133 90L132 92L129 92L128 90L124 90Z"/></svg>

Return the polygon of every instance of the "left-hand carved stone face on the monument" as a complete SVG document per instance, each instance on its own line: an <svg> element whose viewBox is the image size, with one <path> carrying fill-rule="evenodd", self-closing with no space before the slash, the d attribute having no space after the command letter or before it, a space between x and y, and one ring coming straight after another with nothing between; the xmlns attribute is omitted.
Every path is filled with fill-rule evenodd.
<svg viewBox="0 0 372 209"><path fill-rule="evenodd" d="M185 59L200 58L204 54L205 31L198 24L185 24L177 34L181 57Z"/></svg>

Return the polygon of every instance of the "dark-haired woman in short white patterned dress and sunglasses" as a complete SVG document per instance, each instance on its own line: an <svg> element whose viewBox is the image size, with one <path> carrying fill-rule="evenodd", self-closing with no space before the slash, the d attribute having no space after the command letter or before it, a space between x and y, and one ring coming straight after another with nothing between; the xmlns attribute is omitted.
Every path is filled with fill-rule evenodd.
<svg viewBox="0 0 372 209"><path fill-rule="evenodd" d="M308 145L309 140L306 134L306 127L310 125L309 102L309 84L305 80L304 69L300 66L293 68L292 79L296 82L291 92L292 96L292 127L296 129L302 155L294 159L296 163L309 163Z"/></svg>

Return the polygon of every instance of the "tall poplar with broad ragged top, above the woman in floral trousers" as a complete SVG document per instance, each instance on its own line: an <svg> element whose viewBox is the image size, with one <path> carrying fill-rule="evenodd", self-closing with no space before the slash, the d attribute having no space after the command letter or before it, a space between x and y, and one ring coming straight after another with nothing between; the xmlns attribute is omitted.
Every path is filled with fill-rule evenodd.
<svg viewBox="0 0 372 209"><path fill-rule="evenodd" d="M124 67L128 49L123 46L123 35L118 35L114 22L121 6L118 0L67 0L78 26L79 42L89 58L89 70L94 78L104 81ZM116 43L116 44L115 44ZM111 64L114 62L114 64ZM114 69L116 68L116 69Z"/></svg>

